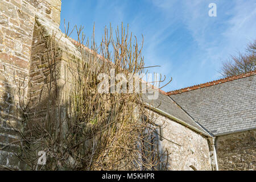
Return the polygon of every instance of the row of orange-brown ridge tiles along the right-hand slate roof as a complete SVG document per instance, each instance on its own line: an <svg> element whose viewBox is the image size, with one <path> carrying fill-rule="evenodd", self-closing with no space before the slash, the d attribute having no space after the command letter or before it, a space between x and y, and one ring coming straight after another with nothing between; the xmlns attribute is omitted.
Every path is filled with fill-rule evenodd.
<svg viewBox="0 0 256 182"><path fill-rule="evenodd" d="M175 94L179 94L179 93L189 92L191 90L196 90L196 89L201 89L201 88L205 88L205 87L208 87L208 86L222 84L222 83L228 82L228 81L238 80L240 78L245 78L245 77L249 77L249 76L253 76L253 75L256 75L256 71L251 71L251 72L248 72L248 73L243 73L241 75L221 78L219 80L209 81L209 82L205 82L203 84L188 86L186 88L172 90L170 92L167 92L166 94L167 94L167 96L171 96L171 95L175 95Z"/></svg>

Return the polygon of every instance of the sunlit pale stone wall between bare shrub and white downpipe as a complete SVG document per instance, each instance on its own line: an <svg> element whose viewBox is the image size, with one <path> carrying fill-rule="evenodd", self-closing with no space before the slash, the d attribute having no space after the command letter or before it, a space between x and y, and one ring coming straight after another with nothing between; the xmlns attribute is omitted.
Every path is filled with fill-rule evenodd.
<svg viewBox="0 0 256 182"><path fill-rule="evenodd" d="M208 139L199 133L156 114L157 123L162 125L162 150L168 150L169 170L212 170Z"/></svg>

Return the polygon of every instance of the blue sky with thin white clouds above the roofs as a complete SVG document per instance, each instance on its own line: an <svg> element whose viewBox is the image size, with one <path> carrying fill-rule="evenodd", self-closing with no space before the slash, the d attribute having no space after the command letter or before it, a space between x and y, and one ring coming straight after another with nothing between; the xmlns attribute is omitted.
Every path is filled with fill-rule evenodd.
<svg viewBox="0 0 256 182"><path fill-rule="evenodd" d="M216 3L216 17L208 15L209 3ZM95 23L96 40L109 23L129 24L138 38L143 34L146 66L161 66L150 72L173 78L166 92L217 80L222 61L256 38L255 0L62 0L63 31L64 18L84 26L89 37Z"/></svg>

